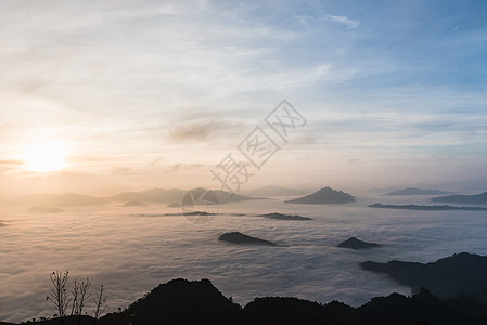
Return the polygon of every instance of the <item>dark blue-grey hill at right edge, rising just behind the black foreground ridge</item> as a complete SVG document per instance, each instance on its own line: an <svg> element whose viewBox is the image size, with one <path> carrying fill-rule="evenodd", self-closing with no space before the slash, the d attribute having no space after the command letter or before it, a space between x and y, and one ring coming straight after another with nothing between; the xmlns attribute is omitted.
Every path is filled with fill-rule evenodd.
<svg viewBox="0 0 487 325"><path fill-rule="evenodd" d="M487 303L487 257L457 253L434 263L363 262L363 270L388 274L413 291L425 287L441 299L465 294Z"/></svg>

